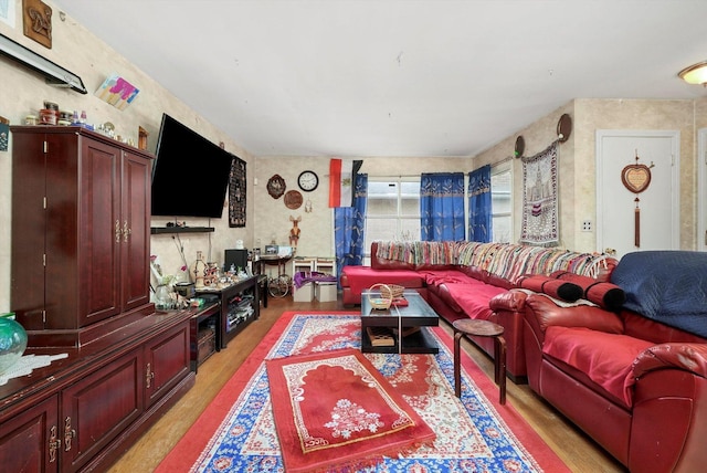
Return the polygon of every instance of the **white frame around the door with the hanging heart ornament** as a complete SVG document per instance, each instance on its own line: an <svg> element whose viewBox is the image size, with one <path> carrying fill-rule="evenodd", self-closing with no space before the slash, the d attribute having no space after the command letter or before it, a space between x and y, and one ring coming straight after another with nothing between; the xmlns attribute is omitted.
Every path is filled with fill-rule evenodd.
<svg viewBox="0 0 707 473"><path fill-rule="evenodd" d="M604 208L603 181L603 138L669 138L671 139L671 248L679 250L680 244L680 132L676 129L598 129L595 134L595 193L597 193L597 222L602 221ZM707 134L705 135L707 139ZM706 141L707 143L707 141ZM627 162L627 161L626 161ZM602 225L597 224L597 251L603 252L606 244Z"/></svg>

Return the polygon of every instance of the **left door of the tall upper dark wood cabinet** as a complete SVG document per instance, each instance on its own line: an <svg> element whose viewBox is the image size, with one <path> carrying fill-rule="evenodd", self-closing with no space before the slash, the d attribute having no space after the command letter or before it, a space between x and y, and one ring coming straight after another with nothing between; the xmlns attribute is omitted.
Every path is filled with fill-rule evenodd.
<svg viewBox="0 0 707 473"><path fill-rule="evenodd" d="M120 150L83 138L81 146L78 325L120 312Z"/></svg>

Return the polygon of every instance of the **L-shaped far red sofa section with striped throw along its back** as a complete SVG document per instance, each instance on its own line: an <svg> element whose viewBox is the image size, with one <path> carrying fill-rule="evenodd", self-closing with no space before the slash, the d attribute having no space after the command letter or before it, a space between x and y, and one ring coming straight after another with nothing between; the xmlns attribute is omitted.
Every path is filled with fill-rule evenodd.
<svg viewBox="0 0 707 473"><path fill-rule="evenodd" d="M598 261L595 255L518 244L373 242L371 265L342 267L340 284L347 305L360 304L361 292L373 284L398 284L418 291L450 323L469 317L502 325L508 376L515 382L525 382L525 297L508 290L527 274L558 270L582 274ZM492 299L494 305L489 306ZM472 339L493 357L493 339Z"/></svg>

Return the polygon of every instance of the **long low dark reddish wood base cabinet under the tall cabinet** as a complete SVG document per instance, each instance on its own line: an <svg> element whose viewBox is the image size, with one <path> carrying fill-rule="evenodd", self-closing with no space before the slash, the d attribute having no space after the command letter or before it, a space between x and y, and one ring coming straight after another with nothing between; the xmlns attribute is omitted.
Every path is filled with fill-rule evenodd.
<svg viewBox="0 0 707 473"><path fill-rule="evenodd" d="M104 471L194 383L193 313L145 317L0 387L2 471ZM32 350L31 350L32 351Z"/></svg>

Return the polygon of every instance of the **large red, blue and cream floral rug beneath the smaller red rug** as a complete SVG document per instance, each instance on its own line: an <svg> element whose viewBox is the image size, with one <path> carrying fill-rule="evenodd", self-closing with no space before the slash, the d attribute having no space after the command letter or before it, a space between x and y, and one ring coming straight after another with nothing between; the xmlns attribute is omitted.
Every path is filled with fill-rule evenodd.
<svg viewBox="0 0 707 473"><path fill-rule="evenodd" d="M295 416L292 397L279 393L279 388L271 396L267 364L309 355L327 359L350 354L351 349L360 350L360 317L350 313L283 314L157 471L291 471L283 461L281 445L298 443L298 434L288 430L283 433L286 439L279 438L283 431L278 431L273 412L282 408L291 417ZM373 449L376 452L363 452L361 460L372 458L369 453L380 452L383 456L374 462L361 462L358 467L351 466L355 462L338 462L336 453L330 453L328 464L313 462L309 466L296 464L296 467L386 473L568 472L511 402L498 403L497 387L465 354L462 356L462 398L454 396L452 337L442 327L430 328L430 332L440 347L436 355L365 354L360 358L367 360L362 366L374 367L393 388L395 402L388 408L392 411L404 403L412 407L414 414L410 419L421 419L433 431L434 439L423 433L415 439L398 440L399 445L391 442L391 448L381 445ZM384 396L383 391L378 396ZM357 399L361 397L351 396L348 401L356 403ZM398 404L399 399L404 403ZM374 411L381 404L377 406L361 409ZM349 404L340 406L342 410L349 408ZM323 416L336 427L333 412L334 409L329 409Z"/></svg>

